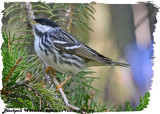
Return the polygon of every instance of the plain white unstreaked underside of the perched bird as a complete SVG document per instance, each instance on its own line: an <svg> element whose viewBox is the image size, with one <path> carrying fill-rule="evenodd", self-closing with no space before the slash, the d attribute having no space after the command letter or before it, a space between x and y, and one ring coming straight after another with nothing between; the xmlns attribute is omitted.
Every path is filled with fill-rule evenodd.
<svg viewBox="0 0 160 114"><path fill-rule="evenodd" d="M61 72L61 73L78 73L79 71L82 70L82 68L85 67L84 64L81 65L81 68L75 67L73 65L68 65L65 63L61 63L59 60L59 54L57 53L57 51L55 50L54 53L51 53L48 51L48 55L45 54L45 51L42 51L39 47L39 38L37 37L37 35L35 35L35 41L34 41L34 48L35 51L38 55L38 57L46 64L47 67L52 67L53 69ZM45 47L41 46L43 49L45 49ZM57 58L57 62L54 62L54 57L56 56ZM71 60L72 61L72 60Z"/></svg>

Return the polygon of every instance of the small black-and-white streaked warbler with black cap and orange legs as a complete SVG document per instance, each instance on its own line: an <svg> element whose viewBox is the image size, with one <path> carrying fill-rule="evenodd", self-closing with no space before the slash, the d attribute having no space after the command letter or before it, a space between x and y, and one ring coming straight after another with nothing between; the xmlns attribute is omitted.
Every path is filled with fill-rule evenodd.
<svg viewBox="0 0 160 114"><path fill-rule="evenodd" d="M74 75L92 66L129 66L127 63L113 61L79 42L47 18L27 19L33 25L35 52L48 68Z"/></svg>

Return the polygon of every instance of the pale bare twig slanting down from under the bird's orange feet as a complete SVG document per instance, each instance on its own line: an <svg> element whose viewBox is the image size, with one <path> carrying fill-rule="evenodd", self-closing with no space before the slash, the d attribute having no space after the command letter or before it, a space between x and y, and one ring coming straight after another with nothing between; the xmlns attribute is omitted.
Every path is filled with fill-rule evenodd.
<svg viewBox="0 0 160 114"><path fill-rule="evenodd" d="M54 82L54 84L55 84L55 85L59 85L59 82L57 81L54 73L53 73L51 70L49 71L49 74L50 74L50 76L53 77L53 82ZM62 90L62 88L59 88L58 90L59 90L59 92L60 92L61 95L62 95L62 98L63 98L63 100L64 100L65 105L66 105L68 108L70 108L70 109L72 109L72 110L75 110L75 111L77 111L77 112L81 112L81 113L83 113L83 114L85 113L85 112L83 112L81 109L79 109L79 108L77 108L77 107L75 107L75 106L73 106L73 105L71 105L71 104L68 103L68 99L67 99L64 91Z"/></svg>

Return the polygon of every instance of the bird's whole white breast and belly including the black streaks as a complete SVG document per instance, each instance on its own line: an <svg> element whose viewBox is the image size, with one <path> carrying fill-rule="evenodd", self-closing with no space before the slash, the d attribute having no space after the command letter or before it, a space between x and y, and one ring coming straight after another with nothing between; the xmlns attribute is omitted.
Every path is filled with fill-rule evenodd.
<svg viewBox="0 0 160 114"><path fill-rule="evenodd" d="M77 73L85 67L84 60L76 55L59 52L35 35L34 48L38 57L46 64L61 73Z"/></svg>

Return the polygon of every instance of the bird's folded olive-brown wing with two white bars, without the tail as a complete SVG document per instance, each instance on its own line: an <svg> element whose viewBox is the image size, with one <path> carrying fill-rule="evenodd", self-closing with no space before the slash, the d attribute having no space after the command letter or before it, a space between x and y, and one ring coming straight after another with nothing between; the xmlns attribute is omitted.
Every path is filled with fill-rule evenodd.
<svg viewBox="0 0 160 114"><path fill-rule="evenodd" d="M97 62L102 62L110 65L112 63L112 60L99 54L95 50L89 48L88 46L85 46L81 43L72 43L72 42L64 42L64 41L53 41L54 46L56 49L72 53L75 55L78 55L80 57L97 61Z"/></svg>

